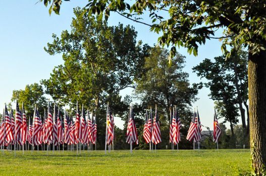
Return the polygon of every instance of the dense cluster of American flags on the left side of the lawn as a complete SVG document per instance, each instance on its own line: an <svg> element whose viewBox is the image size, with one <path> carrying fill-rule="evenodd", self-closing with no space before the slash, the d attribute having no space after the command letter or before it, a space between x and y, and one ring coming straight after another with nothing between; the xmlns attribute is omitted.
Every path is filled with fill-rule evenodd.
<svg viewBox="0 0 266 176"><path fill-rule="evenodd" d="M26 122L26 113L24 105L22 111L19 104L16 104L15 119L13 110L8 113L5 106L2 122L0 124L0 145L19 144L23 145L26 141L32 145L52 144L58 146L60 144L95 144L97 138L96 117L90 117L83 109L80 113L78 104L76 111L76 120L68 115L65 111L64 122L60 114L60 109L54 105L54 113L48 102L47 115L44 112L43 121L41 120L38 109L35 106L33 119Z"/></svg>

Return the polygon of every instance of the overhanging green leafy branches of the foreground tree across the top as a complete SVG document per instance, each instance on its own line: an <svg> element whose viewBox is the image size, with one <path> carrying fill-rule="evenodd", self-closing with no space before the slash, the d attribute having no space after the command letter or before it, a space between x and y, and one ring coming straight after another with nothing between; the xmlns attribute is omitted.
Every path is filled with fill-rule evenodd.
<svg viewBox="0 0 266 176"><path fill-rule="evenodd" d="M42 1L42 0L41 0ZM43 1L50 10L59 14L62 0ZM103 16L107 20L110 12L150 26L156 33L162 32L158 38L161 45L171 45L171 54L176 53L176 47L186 47L188 52L197 55L198 45L206 39L219 38L223 40L222 50L248 46L252 54L265 50L266 40L266 1L133 1L99 0L86 5L88 16ZM150 24L143 23L138 16L149 13ZM168 12L167 17L161 16ZM223 36L214 37L217 30L223 30ZM227 53L229 57L231 52Z"/></svg>

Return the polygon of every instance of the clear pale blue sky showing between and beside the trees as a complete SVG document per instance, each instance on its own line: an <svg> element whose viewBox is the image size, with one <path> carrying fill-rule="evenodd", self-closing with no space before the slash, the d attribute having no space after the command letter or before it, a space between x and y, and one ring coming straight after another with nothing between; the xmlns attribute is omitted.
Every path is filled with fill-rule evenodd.
<svg viewBox="0 0 266 176"><path fill-rule="evenodd" d="M0 1L0 108L9 103L13 90L24 89L26 84L38 82L49 77L52 69L63 63L60 55L50 56L44 50L47 42L51 42L52 33L60 35L63 30L70 30L73 17L73 8L84 7L86 1L63 2L60 15L49 16L48 8L37 0L31 1ZM147 26L131 22L118 14L111 15L109 25L119 22L133 25L138 31L138 40L153 45L157 43L158 35L149 31ZM189 73L191 83L200 79L191 68L204 58L214 58L222 54L221 43L218 40L209 40L198 49L198 56L187 54L187 50L178 50L186 56L185 71ZM131 91L123 91L122 95ZM199 100L193 104L198 106L201 123L211 127L214 115L214 103L208 98L209 90L199 91ZM220 120L222 121L222 120ZM121 126L122 122L119 122Z"/></svg>

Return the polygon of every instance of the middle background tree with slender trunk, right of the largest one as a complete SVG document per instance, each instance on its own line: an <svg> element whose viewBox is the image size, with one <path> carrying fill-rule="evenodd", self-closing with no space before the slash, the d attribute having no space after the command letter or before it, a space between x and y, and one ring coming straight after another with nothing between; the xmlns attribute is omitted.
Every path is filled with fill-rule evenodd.
<svg viewBox="0 0 266 176"><path fill-rule="evenodd" d="M158 107L162 138L165 138L158 145L161 148L165 148L169 140L170 110L177 106L182 124L188 128L192 117L191 103L196 100L198 93L195 85L190 86L188 73L183 71L185 57L177 53L172 63L168 63L168 56L166 49L154 47L150 50L150 56L145 59L144 73L136 79L135 90L142 108L154 109L155 104ZM142 117L145 117L144 114Z"/></svg>

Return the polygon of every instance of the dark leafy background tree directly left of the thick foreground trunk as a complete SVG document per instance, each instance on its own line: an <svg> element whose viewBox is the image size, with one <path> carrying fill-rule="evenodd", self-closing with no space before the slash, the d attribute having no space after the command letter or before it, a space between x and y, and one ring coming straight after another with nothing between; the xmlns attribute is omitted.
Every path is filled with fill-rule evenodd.
<svg viewBox="0 0 266 176"><path fill-rule="evenodd" d="M197 76L207 79L204 85L210 89L209 96L216 101L221 117L230 122L231 134L234 135L233 126L238 122L238 110L241 113L243 128L246 129L242 104L248 110L247 52L239 50L227 61L225 58L225 55L215 57L214 62L205 59L192 69Z"/></svg>

